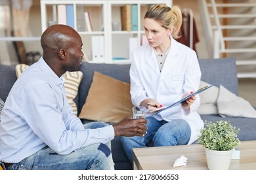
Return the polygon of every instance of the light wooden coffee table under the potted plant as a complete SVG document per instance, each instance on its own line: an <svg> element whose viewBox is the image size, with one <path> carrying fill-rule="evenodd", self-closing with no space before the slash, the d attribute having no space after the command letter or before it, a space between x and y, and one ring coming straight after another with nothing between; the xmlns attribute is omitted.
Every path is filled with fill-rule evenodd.
<svg viewBox="0 0 256 183"><path fill-rule="evenodd" d="M256 141L242 141L240 159L232 159L230 170L256 170ZM177 158L186 156L184 167L173 167ZM133 169L140 170L207 170L205 151L199 144L133 149Z"/></svg>

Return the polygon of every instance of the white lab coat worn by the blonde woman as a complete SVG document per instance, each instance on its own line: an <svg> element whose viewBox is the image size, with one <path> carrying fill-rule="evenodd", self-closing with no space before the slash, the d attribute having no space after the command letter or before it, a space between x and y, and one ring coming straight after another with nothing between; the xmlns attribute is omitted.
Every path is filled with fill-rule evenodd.
<svg viewBox="0 0 256 183"><path fill-rule="evenodd" d="M160 73L154 48L148 44L139 46L131 54L131 99L133 105L147 98L156 99L163 107L179 101L185 93L198 90L201 71L198 58L194 50L175 41L171 37L171 48ZM184 119L191 128L191 137L188 144L198 139L203 121L196 112L200 105L199 95L185 111L181 105L171 107L154 116L158 120L171 122L174 119ZM149 116L150 112L146 112Z"/></svg>

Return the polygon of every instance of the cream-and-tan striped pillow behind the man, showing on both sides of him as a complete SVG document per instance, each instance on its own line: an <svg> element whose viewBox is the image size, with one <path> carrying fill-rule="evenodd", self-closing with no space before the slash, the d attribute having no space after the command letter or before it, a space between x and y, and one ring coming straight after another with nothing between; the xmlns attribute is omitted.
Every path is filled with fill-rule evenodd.
<svg viewBox="0 0 256 183"><path fill-rule="evenodd" d="M26 64L18 64L15 67L16 70L16 76L20 76L23 71L28 69L28 65ZM64 74L64 88L66 92L66 96L68 98L68 103L71 105L72 110L74 111L75 115L77 116L77 106L74 102L74 99L78 93L79 84L81 82L81 79L83 78L83 73L81 71L76 72L66 72Z"/></svg>

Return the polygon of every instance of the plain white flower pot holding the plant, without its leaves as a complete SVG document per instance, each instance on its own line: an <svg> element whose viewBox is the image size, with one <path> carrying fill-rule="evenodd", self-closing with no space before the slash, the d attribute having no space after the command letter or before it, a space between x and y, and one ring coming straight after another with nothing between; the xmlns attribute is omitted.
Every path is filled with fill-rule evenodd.
<svg viewBox="0 0 256 183"><path fill-rule="evenodd" d="M209 170L228 170L233 150L209 150L205 148L205 157Z"/></svg>

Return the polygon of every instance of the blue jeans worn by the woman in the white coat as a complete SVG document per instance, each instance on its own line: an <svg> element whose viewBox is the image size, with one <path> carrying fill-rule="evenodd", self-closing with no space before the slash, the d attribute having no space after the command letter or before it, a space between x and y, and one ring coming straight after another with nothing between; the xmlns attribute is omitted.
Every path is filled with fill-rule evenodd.
<svg viewBox="0 0 256 183"><path fill-rule="evenodd" d="M153 142L153 146L176 146L188 144L191 129L185 120L158 121L155 118L147 118L148 127L144 137L121 137L123 150L129 160L133 161L132 148L144 148Z"/></svg>

